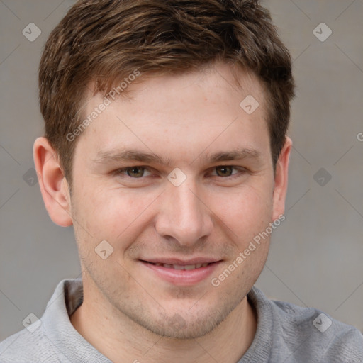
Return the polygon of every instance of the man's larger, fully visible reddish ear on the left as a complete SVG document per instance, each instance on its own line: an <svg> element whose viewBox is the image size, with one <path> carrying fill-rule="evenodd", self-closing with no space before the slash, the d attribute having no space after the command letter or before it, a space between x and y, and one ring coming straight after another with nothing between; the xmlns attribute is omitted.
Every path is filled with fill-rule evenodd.
<svg viewBox="0 0 363 363"><path fill-rule="evenodd" d="M57 153L50 146L48 139L35 140L33 156L40 191L50 218L62 227L72 225L68 183L60 167Z"/></svg>

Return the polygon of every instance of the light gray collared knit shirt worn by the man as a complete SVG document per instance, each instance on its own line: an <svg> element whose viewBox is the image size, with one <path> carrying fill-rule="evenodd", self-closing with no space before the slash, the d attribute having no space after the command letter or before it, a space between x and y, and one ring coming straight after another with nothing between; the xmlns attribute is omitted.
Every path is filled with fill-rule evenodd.
<svg viewBox="0 0 363 363"><path fill-rule="evenodd" d="M257 311L257 332L236 363L363 363L357 328L315 308L269 300L256 286L247 297ZM60 281L42 318L0 342L0 362L111 362L69 320L82 301L82 279Z"/></svg>

